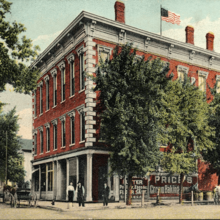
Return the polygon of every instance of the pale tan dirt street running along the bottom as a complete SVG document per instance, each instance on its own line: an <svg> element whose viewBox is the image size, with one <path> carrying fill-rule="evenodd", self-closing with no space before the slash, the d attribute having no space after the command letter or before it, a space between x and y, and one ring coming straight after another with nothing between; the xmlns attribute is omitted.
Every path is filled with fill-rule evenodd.
<svg viewBox="0 0 220 220"><path fill-rule="evenodd" d="M173 205L149 208L101 209L60 212L42 208L11 208L0 203L0 219L219 219L220 206Z"/></svg>

